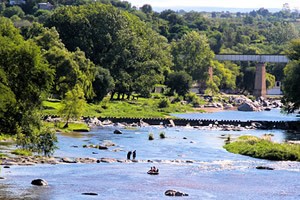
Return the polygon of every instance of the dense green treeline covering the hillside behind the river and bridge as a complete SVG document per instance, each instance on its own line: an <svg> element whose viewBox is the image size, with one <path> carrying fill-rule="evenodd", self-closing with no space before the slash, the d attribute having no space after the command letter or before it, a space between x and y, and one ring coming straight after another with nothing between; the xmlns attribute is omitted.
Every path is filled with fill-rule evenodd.
<svg viewBox="0 0 300 200"><path fill-rule="evenodd" d="M68 107L98 103L108 93L150 97L158 84L183 97L195 83L208 94L251 93L255 63L220 63L215 54L289 54L293 61L284 72L268 64L267 85L284 80L288 110L300 106L296 11L157 13L119 0L49 1L51 9L43 10L40 2L0 5L0 132L18 134L23 147L55 140L41 131L38 111L46 98L62 100L68 122L80 116Z"/></svg>

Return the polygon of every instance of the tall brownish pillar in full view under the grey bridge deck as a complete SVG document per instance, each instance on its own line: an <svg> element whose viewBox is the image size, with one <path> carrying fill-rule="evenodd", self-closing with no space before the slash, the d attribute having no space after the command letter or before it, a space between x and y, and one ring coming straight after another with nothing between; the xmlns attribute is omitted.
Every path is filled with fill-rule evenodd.
<svg viewBox="0 0 300 200"><path fill-rule="evenodd" d="M264 63L256 64L256 72L255 72L255 83L254 83L254 91L253 95L255 97L263 96L265 97L267 94L266 89L266 66Z"/></svg>

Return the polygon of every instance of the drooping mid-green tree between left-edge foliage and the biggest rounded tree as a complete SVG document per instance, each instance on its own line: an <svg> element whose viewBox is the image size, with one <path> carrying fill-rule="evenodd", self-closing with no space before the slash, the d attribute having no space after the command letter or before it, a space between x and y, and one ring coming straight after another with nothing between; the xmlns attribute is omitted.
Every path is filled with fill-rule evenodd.
<svg viewBox="0 0 300 200"><path fill-rule="evenodd" d="M54 84L51 89L53 94L62 98L67 91L80 84L85 97L89 100L94 98L92 82L95 78L96 66L86 58L84 52L79 49L75 49L74 52L68 51L54 27L44 28L34 23L27 30L23 30L23 34L32 38L44 49L44 57L55 70Z"/></svg>

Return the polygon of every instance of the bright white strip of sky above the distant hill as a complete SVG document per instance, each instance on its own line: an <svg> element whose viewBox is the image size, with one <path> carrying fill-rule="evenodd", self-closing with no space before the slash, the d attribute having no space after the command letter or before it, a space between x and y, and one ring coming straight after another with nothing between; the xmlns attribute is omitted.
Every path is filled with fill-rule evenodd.
<svg viewBox="0 0 300 200"><path fill-rule="evenodd" d="M224 8L282 8L288 3L290 9L300 9L300 0L126 0L132 6L150 4L153 8L174 7L224 7Z"/></svg>

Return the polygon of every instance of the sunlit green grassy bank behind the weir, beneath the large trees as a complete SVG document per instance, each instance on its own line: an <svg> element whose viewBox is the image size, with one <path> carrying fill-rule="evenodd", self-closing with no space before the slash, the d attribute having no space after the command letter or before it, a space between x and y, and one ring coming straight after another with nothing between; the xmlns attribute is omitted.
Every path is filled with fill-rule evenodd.
<svg viewBox="0 0 300 200"><path fill-rule="evenodd" d="M139 98L138 100L109 101L104 99L99 104L88 104L83 116L95 117L169 117L170 113L185 113L193 111L191 105L182 105L180 102L169 103L161 107L161 99ZM61 107L59 101L44 101L44 115L58 115Z"/></svg>

